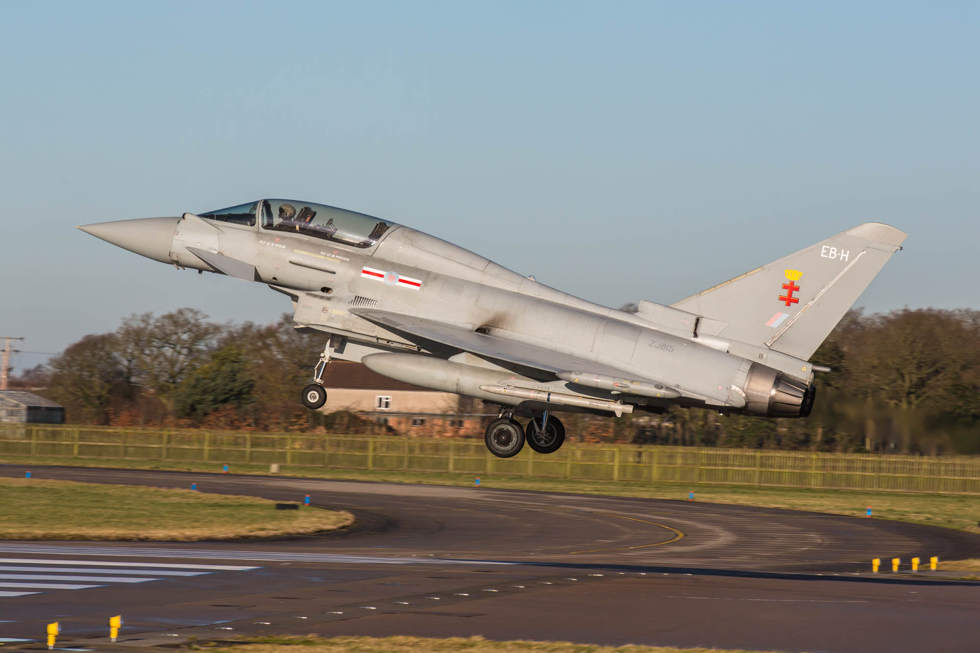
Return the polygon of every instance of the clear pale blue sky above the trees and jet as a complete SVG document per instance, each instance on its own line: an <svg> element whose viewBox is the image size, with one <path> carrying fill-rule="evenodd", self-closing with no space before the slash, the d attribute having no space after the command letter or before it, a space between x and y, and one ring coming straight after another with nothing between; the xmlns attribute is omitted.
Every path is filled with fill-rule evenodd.
<svg viewBox="0 0 980 653"><path fill-rule="evenodd" d="M73 228L295 197L618 306L867 221L980 308L975 2L4 2L0 335L289 309ZM21 355L20 367L43 362ZM311 363L313 360L311 359Z"/></svg>

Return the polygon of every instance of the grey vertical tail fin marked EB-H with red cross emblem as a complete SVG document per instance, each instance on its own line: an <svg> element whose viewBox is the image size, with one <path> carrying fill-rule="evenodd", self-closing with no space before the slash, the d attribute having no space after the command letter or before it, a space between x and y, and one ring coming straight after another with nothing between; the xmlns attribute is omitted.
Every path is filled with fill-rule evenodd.
<svg viewBox="0 0 980 653"><path fill-rule="evenodd" d="M906 236L858 225L671 306L728 323L720 337L808 360Z"/></svg>

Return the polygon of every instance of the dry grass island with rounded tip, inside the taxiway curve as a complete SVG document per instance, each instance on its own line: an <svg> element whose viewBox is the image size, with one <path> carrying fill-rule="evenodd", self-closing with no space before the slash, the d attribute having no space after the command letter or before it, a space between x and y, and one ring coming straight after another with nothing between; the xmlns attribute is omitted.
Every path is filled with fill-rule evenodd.
<svg viewBox="0 0 980 653"><path fill-rule="evenodd" d="M0 478L0 539L179 540L295 535L349 526L343 511L275 510L189 489Z"/></svg>

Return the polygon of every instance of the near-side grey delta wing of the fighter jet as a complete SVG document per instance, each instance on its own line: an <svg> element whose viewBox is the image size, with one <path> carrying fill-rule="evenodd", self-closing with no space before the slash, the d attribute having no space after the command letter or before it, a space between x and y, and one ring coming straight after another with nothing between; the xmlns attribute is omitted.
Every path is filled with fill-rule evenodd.
<svg viewBox="0 0 980 653"><path fill-rule="evenodd" d="M635 375L602 363L576 358L498 335L476 333L466 328L433 320L366 308L352 309L351 313L377 326L383 326L401 333L410 340L417 341L420 339L437 342L446 347L467 351L480 358L505 365L519 365L551 375L557 375L559 372L582 371L609 377L635 378ZM643 380L657 382L655 379Z"/></svg>

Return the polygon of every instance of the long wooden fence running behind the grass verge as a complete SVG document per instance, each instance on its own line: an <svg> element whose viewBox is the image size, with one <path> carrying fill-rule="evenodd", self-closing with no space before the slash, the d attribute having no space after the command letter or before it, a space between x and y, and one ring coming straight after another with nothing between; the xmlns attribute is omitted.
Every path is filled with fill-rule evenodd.
<svg viewBox="0 0 980 653"><path fill-rule="evenodd" d="M980 458L566 443L491 455L482 439L0 425L0 454L980 495Z"/></svg>

